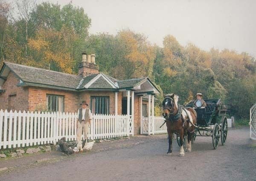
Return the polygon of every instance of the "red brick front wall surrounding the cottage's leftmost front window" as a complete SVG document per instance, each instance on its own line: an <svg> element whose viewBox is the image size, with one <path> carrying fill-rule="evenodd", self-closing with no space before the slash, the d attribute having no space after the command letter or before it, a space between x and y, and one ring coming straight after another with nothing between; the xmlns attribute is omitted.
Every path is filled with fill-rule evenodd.
<svg viewBox="0 0 256 181"><path fill-rule="evenodd" d="M46 107L47 94L64 96L64 111L77 112L79 108L79 96L77 92L41 87L29 87L29 110Z"/></svg>

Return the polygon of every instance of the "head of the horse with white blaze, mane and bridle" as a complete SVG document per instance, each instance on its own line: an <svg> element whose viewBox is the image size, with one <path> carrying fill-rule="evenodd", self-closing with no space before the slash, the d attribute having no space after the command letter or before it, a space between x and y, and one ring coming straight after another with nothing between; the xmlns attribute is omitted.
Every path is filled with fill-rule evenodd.
<svg viewBox="0 0 256 181"><path fill-rule="evenodd" d="M179 96L168 94L163 100L163 117L168 119L169 115L173 115L177 112L177 102Z"/></svg>

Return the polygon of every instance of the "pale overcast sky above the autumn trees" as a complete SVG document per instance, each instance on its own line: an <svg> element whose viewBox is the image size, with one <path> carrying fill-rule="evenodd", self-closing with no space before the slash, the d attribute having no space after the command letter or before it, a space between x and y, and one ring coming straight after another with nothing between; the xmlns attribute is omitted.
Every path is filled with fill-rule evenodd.
<svg viewBox="0 0 256 181"><path fill-rule="evenodd" d="M43 0L38 0L42 2ZM61 4L70 0L49 0ZM172 34L186 46L232 49L256 57L256 0L73 0L91 18L90 34L131 29L163 46Z"/></svg>

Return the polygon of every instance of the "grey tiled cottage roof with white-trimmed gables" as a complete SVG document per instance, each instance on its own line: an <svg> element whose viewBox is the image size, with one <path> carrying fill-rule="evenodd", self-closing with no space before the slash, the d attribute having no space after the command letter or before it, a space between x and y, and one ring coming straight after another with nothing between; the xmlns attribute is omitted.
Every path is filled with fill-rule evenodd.
<svg viewBox="0 0 256 181"><path fill-rule="evenodd" d="M81 78L79 75L71 75L47 69L40 69L31 66L20 65L11 62L4 62L0 71L0 84L5 80L9 71L12 71L19 79L18 86L39 86L53 89L65 89L72 91L97 90L97 89L140 89L140 86L147 82L154 92L159 92L149 78L133 78L128 80L117 80L104 73L89 75ZM143 85L142 85L143 86Z"/></svg>

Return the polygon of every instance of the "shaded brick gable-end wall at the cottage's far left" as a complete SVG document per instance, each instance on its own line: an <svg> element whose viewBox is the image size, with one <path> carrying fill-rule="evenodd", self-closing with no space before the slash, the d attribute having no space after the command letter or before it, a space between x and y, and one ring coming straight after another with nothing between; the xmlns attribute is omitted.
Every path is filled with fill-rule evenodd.
<svg viewBox="0 0 256 181"><path fill-rule="evenodd" d="M7 109L8 111L10 109L13 111L28 109L28 89L17 86L18 83L20 83L20 80L10 72L2 86L2 89L6 92L0 93L0 109Z"/></svg>

